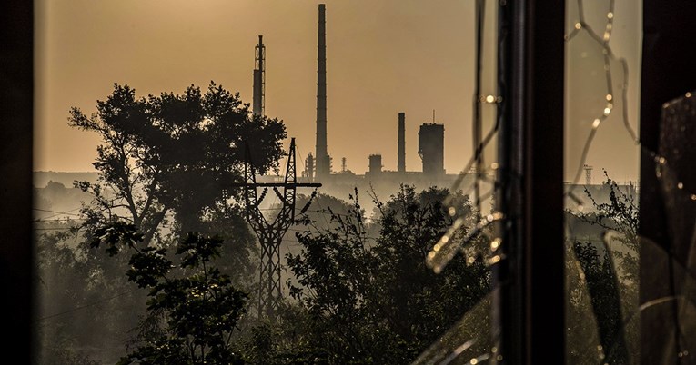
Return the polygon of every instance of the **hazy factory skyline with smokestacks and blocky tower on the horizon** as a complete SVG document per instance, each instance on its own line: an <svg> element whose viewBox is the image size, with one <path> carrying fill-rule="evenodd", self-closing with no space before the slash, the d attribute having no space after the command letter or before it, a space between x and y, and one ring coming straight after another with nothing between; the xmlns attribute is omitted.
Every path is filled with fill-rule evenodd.
<svg viewBox="0 0 696 365"><path fill-rule="evenodd" d="M321 182L321 192L345 199L356 189L360 192L374 192L388 198L396 192L401 184L413 185L417 189L431 186L449 187L458 178L459 173L448 174L444 168L445 126L437 123L435 111L430 122L422 123L418 132L418 154L422 163L420 171L407 171L406 166L406 113L397 112L398 156L396 170L385 170L382 155L373 153L368 158L368 171L364 174L353 173L347 169L346 158L341 159L340 170L334 170L333 157L328 153L327 121L327 54L326 54L326 5L318 5L318 57L317 57L317 121L316 149L304 159L304 170L298 176L298 182ZM255 69L252 110L255 115L264 115L266 87L266 46L263 36L258 36L255 47ZM464 177L473 181L475 173ZM259 181L279 181L280 176L259 176Z"/></svg>

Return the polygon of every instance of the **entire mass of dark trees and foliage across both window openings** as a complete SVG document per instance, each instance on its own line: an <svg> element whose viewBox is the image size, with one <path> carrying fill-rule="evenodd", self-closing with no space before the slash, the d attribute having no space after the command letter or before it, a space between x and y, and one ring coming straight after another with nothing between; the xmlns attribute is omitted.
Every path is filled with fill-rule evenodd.
<svg viewBox="0 0 696 365"><path fill-rule="evenodd" d="M246 145L257 171L278 168L282 121L253 116L238 94L211 83L140 98L116 84L96 113L73 108L70 123L101 137L99 179L76 182L90 196L79 221L37 225L50 228L36 231L40 363L401 364L433 343L453 350L470 339L472 353L492 351L480 314L489 312L491 233L466 242L439 274L425 261L453 222L454 237L476 226L461 192L402 186L386 201L370 197L371 214L358 192L348 202L319 194L288 232L287 296L267 319L257 315L256 237L230 182L244 182ZM635 207L611 196L594 215L573 217L619 230L622 256L587 237L567 244L569 318L579 320L569 329L587 339L569 341L579 361L596 344L614 363L632 349L623 321L636 288L627 220ZM452 328L456 336L441 337Z"/></svg>

